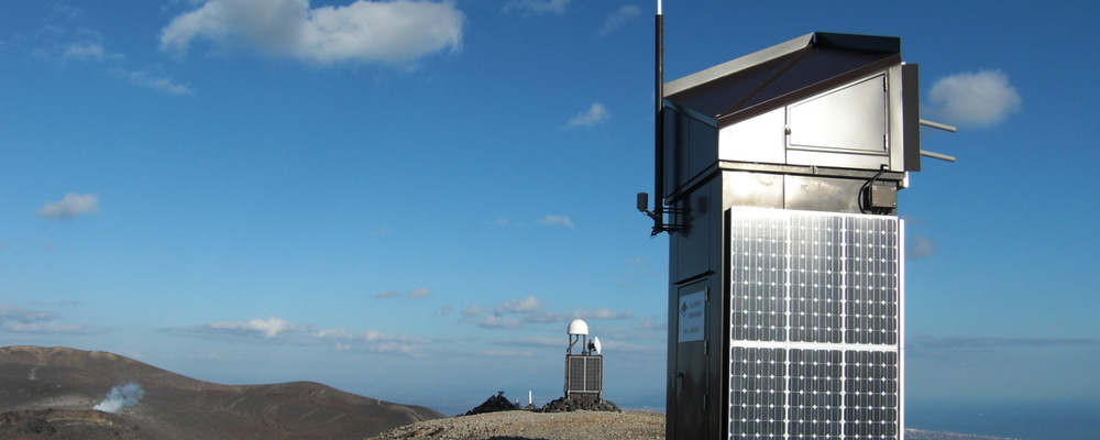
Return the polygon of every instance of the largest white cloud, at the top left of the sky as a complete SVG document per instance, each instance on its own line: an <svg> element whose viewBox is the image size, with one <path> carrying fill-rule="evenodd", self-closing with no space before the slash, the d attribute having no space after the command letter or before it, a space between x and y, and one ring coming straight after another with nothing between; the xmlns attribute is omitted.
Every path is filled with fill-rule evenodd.
<svg viewBox="0 0 1100 440"><path fill-rule="evenodd" d="M464 21L450 1L358 0L311 8L309 0L207 0L174 18L161 32L161 46L182 53L207 40L310 64L402 65L459 50Z"/></svg>

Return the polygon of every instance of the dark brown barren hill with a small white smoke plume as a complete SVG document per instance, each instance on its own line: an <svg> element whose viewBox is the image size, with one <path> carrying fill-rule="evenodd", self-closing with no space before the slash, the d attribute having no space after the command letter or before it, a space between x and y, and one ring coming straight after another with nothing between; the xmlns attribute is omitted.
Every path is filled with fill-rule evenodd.
<svg viewBox="0 0 1100 440"><path fill-rule="evenodd" d="M120 378L141 386L138 405L94 410ZM107 352L0 348L3 439L360 440L441 417L311 382L221 385Z"/></svg>

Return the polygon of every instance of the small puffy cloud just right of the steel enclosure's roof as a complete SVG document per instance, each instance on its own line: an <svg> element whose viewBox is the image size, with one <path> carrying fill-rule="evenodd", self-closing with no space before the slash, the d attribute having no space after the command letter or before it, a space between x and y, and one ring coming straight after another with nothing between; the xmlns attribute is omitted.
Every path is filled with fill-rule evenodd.
<svg viewBox="0 0 1100 440"><path fill-rule="evenodd" d="M928 94L934 117L943 122L990 127L1021 110L1023 100L1000 70L956 74L936 81Z"/></svg>

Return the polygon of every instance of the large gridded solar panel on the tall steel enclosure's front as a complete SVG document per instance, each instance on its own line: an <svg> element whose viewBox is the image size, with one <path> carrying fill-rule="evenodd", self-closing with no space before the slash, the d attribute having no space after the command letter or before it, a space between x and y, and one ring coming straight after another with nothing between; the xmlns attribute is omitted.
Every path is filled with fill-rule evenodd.
<svg viewBox="0 0 1100 440"><path fill-rule="evenodd" d="M899 438L898 218L728 218L729 438Z"/></svg>

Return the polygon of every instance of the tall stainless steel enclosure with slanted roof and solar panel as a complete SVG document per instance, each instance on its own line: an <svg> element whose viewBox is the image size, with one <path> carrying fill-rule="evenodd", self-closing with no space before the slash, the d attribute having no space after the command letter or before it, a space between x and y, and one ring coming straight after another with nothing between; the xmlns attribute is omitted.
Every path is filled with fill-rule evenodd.
<svg viewBox="0 0 1100 440"><path fill-rule="evenodd" d="M669 439L900 439L917 67L813 33L664 85Z"/></svg>

